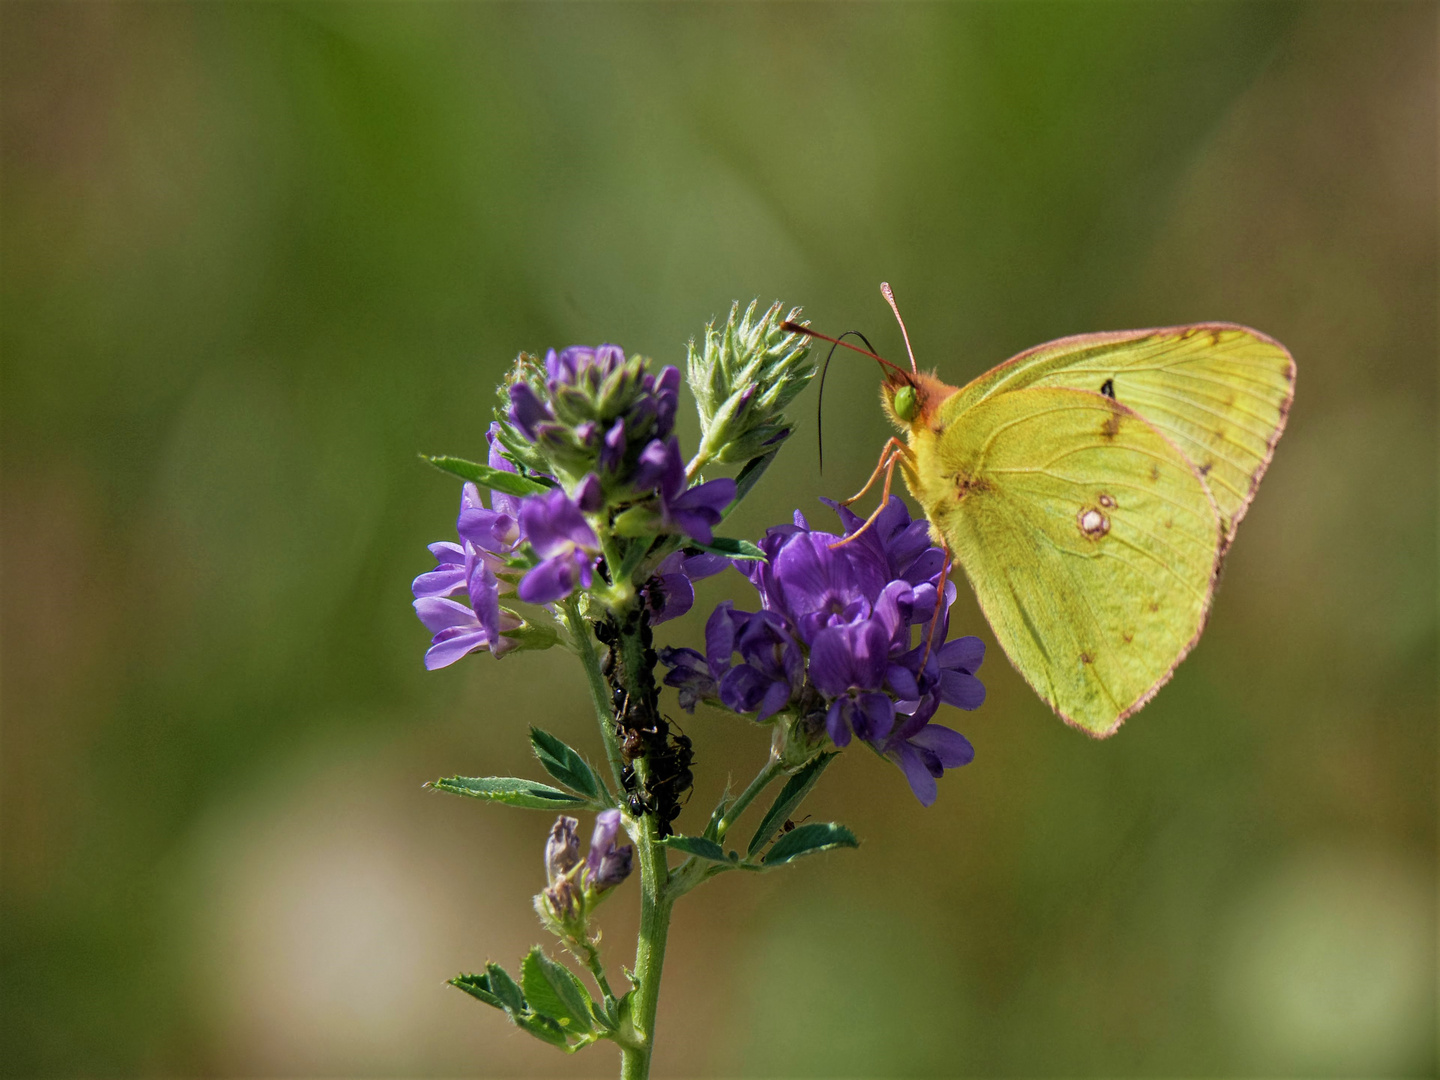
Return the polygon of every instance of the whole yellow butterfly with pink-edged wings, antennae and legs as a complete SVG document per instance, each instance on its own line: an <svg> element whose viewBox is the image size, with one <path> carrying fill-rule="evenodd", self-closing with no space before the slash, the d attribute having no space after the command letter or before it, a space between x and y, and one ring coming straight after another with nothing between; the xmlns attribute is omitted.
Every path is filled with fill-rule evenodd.
<svg viewBox="0 0 1440 1080"><path fill-rule="evenodd" d="M1200 639L1295 360L1256 330L1197 323L1064 337L958 389L916 367L900 330L909 372L845 346L883 364L904 435L850 501L883 472L884 505L899 465L1020 674L1066 723L1113 734Z"/></svg>

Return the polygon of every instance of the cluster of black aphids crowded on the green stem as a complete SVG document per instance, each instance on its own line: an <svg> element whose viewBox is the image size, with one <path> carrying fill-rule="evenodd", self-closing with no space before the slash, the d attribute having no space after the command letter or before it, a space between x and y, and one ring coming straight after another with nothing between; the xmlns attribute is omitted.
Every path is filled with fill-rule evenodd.
<svg viewBox="0 0 1440 1080"><path fill-rule="evenodd" d="M639 635L645 648L641 670L634 672L635 687L626 688L624 664L621 661L622 636ZM694 786L690 766L694 752L690 737L670 730L670 721L660 714L660 687L655 685L654 635L649 628L649 605L641 603L625 625L613 615L595 624L595 636L606 647L600 671L611 687L611 703L615 708L615 739L621 744L625 768L621 782L625 785L626 808L632 816L652 814L655 831L668 837L670 824L680 816L681 796ZM645 759L647 775L635 770L635 760Z"/></svg>

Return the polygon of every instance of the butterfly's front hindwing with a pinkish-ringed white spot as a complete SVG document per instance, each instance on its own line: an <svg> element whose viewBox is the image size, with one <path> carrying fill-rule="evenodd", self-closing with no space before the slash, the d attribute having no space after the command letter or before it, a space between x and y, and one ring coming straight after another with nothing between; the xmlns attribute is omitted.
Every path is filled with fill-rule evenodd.
<svg viewBox="0 0 1440 1080"><path fill-rule="evenodd" d="M1198 469L1094 390L1007 390L913 444L907 472L1011 662L1104 737L1195 644L1224 541Z"/></svg>

